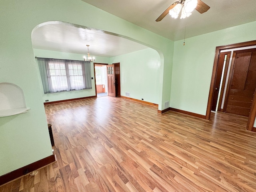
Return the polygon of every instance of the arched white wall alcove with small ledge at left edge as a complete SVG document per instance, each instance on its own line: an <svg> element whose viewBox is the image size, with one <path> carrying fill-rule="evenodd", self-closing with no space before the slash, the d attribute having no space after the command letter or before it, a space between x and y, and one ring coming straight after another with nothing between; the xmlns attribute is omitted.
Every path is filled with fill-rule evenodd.
<svg viewBox="0 0 256 192"><path fill-rule="evenodd" d="M24 113L26 107L22 89L12 83L0 83L0 117Z"/></svg>

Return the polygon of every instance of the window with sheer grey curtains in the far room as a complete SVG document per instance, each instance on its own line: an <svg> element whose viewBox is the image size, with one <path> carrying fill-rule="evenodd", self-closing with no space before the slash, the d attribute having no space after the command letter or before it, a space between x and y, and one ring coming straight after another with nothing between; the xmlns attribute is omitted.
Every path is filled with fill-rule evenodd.
<svg viewBox="0 0 256 192"><path fill-rule="evenodd" d="M90 62L37 58L44 93L91 89Z"/></svg>

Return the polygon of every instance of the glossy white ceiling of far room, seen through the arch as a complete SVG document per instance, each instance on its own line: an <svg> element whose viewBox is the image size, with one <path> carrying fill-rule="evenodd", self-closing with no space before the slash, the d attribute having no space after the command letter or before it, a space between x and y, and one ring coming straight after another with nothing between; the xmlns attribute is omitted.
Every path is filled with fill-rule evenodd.
<svg viewBox="0 0 256 192"><path fill-rule="evenodd" d="M52 50L87 56L113 57L148 48L131 40L106 34L101 30L90 30L64 22L36 28L32 33L35 49Z"/></svg>

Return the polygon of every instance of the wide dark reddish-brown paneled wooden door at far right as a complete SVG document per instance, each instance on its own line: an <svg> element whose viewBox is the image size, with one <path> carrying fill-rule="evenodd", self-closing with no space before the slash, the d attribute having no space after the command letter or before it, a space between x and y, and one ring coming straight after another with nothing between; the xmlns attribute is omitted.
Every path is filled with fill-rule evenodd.
<svg viewBox="0 0 256 192"><path fill-rule="evenodd" d="M256 49L234 51L225 112L249 116L256 88Z"/></svg>

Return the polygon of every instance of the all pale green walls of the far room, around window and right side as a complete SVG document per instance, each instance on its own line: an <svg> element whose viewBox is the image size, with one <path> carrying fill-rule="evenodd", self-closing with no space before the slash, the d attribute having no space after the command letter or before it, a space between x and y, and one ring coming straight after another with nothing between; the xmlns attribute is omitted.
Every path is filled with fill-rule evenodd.
<svg viewBox="0 0 256 192"><path fill-rule="evenodd" d="M83 58L82 54L72 54L39 49L34 49L34 54L36 57L42 58L58 58L70 60L82 60ZM112 58L97 56L96 62L107 64L120 62L122 96L125 96L125 92L130 92L131 98L139 100L143 98L144 101L158 104L160 90L160 56L156 50L147 48ZM91 70L91 76L94 77L93 63L91 63ZM38 76L40 76L39 68ZM44 94L41 81L40 88L43 97L42 102L45 102L45 100L52 102L72 98L95 96L94 79L92 80L92 89L90 90Z"/></svg>

